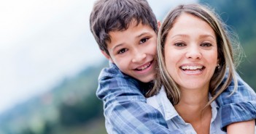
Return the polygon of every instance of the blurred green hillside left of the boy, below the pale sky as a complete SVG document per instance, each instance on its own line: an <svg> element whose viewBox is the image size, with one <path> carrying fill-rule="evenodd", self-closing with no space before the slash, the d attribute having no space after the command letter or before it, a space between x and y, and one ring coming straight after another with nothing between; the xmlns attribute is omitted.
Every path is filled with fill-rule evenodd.
<svg viewBox="0 0 256 134"><path fill-rule="evenodd" d="M102 102L95 93L98 74L105 66L104 62L88 67L47 93L1 114L0 134L82 134L92 122L97 130L90 130L92 133L106 133Z"/></svg>

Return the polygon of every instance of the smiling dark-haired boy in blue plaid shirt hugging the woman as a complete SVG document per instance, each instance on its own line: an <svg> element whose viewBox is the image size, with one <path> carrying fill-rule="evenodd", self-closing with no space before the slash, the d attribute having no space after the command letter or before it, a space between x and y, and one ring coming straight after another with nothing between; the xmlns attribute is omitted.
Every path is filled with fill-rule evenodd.
<svg viewBox="0 0 256 134"><path fill-rule="evenodd" d="M184 133L182 130L168 130L163 115L147 105L144 97L155 78L158 33L158 22L147 1L96 1L90 14L90 30L102 54L110 61L109 68L99 75L96 93L104 101L107 132ZM227 125L232 127L233 122L254 122L255 93L240 80L239 89L245 88L247 90L238 90L225 98L232 92L232 88L228 88L217 100L222 106L223 129ZM247 109L250 110L244 115L241 111Z"/></svg>

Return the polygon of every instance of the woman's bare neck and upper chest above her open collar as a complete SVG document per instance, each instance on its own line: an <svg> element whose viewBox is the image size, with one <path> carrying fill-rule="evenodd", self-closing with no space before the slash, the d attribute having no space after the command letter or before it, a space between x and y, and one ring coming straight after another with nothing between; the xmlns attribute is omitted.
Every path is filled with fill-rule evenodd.
<svg viewBox="0 0 256 134"><path fill-rule="evenodd" d="M209 101L208 93L208 88L181 89L181 100L174 106L182 119L190 123L197 133L209 133L212 108L205 108Z"/></svg>

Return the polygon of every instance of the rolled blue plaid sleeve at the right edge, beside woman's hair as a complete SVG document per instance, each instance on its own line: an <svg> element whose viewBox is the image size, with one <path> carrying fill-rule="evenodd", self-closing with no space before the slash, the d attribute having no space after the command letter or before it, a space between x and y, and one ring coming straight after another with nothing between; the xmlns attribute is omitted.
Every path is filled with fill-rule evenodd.
<svg viewBox="0 0 256 134"><path fill-rule="evenodd" d="M236 74L238 78L238 89L233 92L233 81L227 89L223 91L217 98L217 103L220 105L221 127L226 131L226 127L234 122L243 122L256 119L256 94L252 88L247 85Z"/></svg>

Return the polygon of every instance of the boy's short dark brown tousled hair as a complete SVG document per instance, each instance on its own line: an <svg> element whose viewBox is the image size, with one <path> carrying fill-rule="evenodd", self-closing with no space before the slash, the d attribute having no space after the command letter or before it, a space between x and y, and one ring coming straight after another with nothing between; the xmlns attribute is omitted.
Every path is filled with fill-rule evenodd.
<svg viewBox="0 0 256 134"><path fill-rule="evenodd" d="M109 55L109 32L127 30L134 20L137 25L141 22L158 32L158 22L147 0L98 0L90 14L90 31L99 48Z"/></svg>

